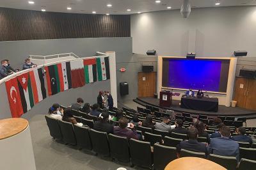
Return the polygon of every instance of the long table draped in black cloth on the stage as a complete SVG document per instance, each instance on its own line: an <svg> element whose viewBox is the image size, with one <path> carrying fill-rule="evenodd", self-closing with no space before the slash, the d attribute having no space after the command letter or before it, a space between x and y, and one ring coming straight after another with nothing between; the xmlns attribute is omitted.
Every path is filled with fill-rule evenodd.
<svg viewBox="0 0 256 170"><path fill-rule="evenodd" d="M218 98L182 97L180 101L180 107L197 111L218 112L218 105Z"/></svg>

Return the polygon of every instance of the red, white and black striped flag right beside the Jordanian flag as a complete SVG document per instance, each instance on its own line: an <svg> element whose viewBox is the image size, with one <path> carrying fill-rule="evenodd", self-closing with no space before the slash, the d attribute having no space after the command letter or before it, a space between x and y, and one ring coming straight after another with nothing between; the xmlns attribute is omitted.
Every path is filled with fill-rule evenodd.
<svg viewBox="0 0 256 170"><path fill-rule="evenodd" d="M44 86L44 75L42 68L30 71L29 79L33 91L34 103L37 104L46 98L46 89Z"/></svg>

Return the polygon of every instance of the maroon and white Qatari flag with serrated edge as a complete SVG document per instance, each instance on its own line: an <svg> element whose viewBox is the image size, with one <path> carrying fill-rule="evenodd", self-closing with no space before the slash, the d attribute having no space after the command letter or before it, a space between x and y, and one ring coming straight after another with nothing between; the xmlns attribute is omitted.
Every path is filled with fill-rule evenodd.
<svg viewBox="0 0 256 170"><path fill-rule="evenodd" d="M84 64L82 59L70 61L72 88L78 88L85 85Z"/></svg>

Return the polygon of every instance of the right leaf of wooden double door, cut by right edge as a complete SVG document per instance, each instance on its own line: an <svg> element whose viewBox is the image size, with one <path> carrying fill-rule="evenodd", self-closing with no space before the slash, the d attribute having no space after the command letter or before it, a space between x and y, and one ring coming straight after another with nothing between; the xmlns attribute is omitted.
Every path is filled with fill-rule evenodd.
<svg viewBox="0 0 256 170"><path fill-rule="evenodd" d="M248 89L246 91L246 109L256 110L256 80L249 79Z"/></svg>

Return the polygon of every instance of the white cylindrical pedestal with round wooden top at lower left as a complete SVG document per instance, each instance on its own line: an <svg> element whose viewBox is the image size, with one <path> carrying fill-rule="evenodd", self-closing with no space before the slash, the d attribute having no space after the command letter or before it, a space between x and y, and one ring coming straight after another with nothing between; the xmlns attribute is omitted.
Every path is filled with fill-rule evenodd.
<svg viewBox="0 0 256 170"><path fill-rule="evenodd" d="M0 169L36 169L28 120L0 120Z"/></svg>

